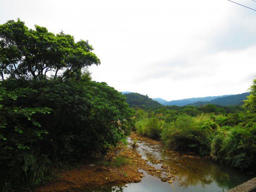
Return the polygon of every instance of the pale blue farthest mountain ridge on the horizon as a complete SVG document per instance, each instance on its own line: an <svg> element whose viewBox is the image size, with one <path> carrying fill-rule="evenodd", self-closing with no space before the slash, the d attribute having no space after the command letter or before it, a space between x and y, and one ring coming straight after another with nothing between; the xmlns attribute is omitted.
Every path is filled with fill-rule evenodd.
<svg viewBox="0 0 256 192"><path fill-rule="evenodd" d="M208 102L208 101L212 101L213 99L222 98L222 97L226 97L226 96L231 96L231 95L208 96L208 97L198 97L198 98L173 100L173 101L163 103L163 105L183 106L183 105L189 105L189 104L192 104L192 103L195 103L195 102Z"/></svg>

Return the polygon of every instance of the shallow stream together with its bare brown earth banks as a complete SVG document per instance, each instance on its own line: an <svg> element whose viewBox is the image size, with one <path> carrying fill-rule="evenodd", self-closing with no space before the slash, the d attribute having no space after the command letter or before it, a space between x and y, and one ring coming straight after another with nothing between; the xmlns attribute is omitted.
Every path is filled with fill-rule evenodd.
<svg viewBox="0 0 256 192"><path fill-rule="evenodd" d="M134 189L155 192L159 187L164 192L170 187L177 192L185 189L203 192L205 187L209 191L226 191L252 178L194 154L166 150L159 141L136 133L131 133L130 145L135 139L137 151L119 143L108 152L105 161L61 170L58 179L38 187L37 191L112 191L113 186L128 192ZM129 162L117 167L118 159Z"/></svg>

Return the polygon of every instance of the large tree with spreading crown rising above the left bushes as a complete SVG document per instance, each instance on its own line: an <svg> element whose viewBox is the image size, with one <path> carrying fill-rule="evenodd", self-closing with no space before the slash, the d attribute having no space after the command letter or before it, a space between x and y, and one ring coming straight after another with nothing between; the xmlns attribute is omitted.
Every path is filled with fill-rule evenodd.
<svg viewBox="0 0 256 192"><path fill-rule="evenodd" d="M83 67L100 64L91 52L88 41L75 42L73 36L55 35L47 28L35 25L29 29L20 19L0 25L1 79L39 79L52 76L67 79Z"/></svg>

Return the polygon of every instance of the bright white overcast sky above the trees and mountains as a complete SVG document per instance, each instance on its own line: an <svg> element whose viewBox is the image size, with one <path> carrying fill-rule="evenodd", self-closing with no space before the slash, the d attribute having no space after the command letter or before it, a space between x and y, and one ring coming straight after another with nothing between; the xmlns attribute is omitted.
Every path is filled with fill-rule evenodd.
<svg viewBox="0 0 256 192"><path fill-rule="evenodd" d="M233 0L256 9L253 0ZM94 81L167 101L247 92L256 78L256 11L228 0L0 0L24 21L88 40Z"/></svg>

